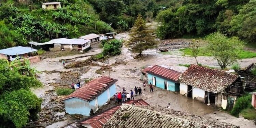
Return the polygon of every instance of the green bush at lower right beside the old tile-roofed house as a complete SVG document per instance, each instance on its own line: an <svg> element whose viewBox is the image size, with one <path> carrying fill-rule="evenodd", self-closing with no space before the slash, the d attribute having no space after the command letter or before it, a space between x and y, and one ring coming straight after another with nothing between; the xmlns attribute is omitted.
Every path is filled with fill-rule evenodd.
<svg viewBox="0 0 256 128"><path fill-rule="evenodd" d="M231 110L232 115L238 115L242 110L246 108L250 108L252 102L252 95L246 94L237 99L236 104L234 105L233 109Z"/></svg>

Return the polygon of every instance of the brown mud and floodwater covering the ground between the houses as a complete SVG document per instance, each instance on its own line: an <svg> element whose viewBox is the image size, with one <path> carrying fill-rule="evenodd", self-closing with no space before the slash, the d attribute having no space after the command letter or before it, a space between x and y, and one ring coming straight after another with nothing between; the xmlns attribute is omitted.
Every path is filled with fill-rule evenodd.
<svg viewBox="0 0 256 128"><path fill-rule="evenodd" d="M116 38L124 40L128 40L129 33L121 33L117 34ZM164 43L163 43L164 42ZM184 72L187 68L182 66L177 66L178 64L196 64L196 61L193 57L189 56L182 56L183 53L177 50L177 48L184 48L188 46L188 39L175 39L175 40L166 40L162 41L162 43L158 44L159 48L167 48L172 53L171 55L162 55L159 54L158 48L150 49L147 51L144 51L144 56L140 59L134 59L133 54L131 54L128 49L124 46L122 48L121 55L111 57L109 59L110 65L112 67L112 70L110 72L111 77L114 79L117 79L117 86L116 90L121 91L123 87L126 88L126 90L133 90L135 86L142 87L142 80L141 80L141 68L145 66L150 65L165 65L173 68L176 71ZM84 55L95 55L100 53L100 49L93 48L89 52L85 53ZM103 65L103 63L99 62L99 66L85 66L82 68L71 68L71 69L64 69L61 62L59 62L59 59L69 59L72 61L81 61L86 60L89 57L82 57L77 58L79 56L84 55L74 55L74 56L65 56L65 57L58 57L58 58L52 58L52 59L45 59L38 63L33 64L32 66L35 67L37 70L40 71L47 71L40 74L40 80L42 83L44 83L44 87L40 89L35 89L34 92L39 97L44 98L44 93L47 90L54 89L55 87L52 85L52 83L61 83L69 85L72 83L72 81L80 80L81 84L84 83L85 79L94 79L97 77L100 77L102 75L109 75L108 71L103 71L102 74L97 74L96 71L99 70L101 67L100 65ZM73 59L76 58L76 59ZM210 67L218 67L217 61L213 59L213 57L197 57L198 61L202 65L207 65ZM247 65L250 65L252 62L255 62L255 58L252 59L242 59L239 63L241 67L245 67ZM68 62L70 63L70 62ZM66 64L68 64L66 63ZM84 72L85 69L88 69L86 72ZM57 72L56 72L57 71ZM61 79L61 72L78 72L78 77L67 77L67 79L63 80ZM69 75L69 74L67 74ZM146 80L146 78L143 76L143 80ZM142 98L149 104L154 105L161 105L163 107L166 107L168 103L171 103L171 108L178 111L187 112L190 114L196 114L208 118L218 119L219 121L226 122L226 123L232 123L238 126L241 126L241 128L253 128L255 125L253 124L253 121L243 119L243 118L236 118L229 114L226 114L224 112L217 111L213 105L207 106L204 103L201 103L199 101L184 97L176 92L171 92L167 90L163 90L160 88L154 88L153 93L150 93L149 88L147 87L145 91L142 92L141 96L134 97L135 99ZM103 111L104 109L107 109L106 105L104 106L100 111ZM65 126L71 121L62 121L54 123L52 126L48 127L60 127Z"/></svg>

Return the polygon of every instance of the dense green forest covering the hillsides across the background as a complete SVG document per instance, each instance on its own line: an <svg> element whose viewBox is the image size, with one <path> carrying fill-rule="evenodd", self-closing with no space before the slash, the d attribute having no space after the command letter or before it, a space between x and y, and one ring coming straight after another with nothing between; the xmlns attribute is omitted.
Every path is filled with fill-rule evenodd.
<svg viewBox="0 0 256 128"><path fill-rule="evenodd" d="M61 2L43 10L43 2ZM160 39L205 36L219 31L248 42L256 38L256 0L4 0L0 4L0 49L130 30L141 14L155 19ZM165 7L165 9L161 9Z"/></svg>

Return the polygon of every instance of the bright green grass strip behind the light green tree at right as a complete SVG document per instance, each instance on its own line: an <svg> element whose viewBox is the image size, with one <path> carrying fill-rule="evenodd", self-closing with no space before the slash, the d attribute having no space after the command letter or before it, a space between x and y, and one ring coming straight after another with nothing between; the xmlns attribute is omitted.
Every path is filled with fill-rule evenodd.
<svg viewBox="0 0 256 128"><path fill-rule="evenodd" d="M190 55L190 56L192 55L191 48L183 48L183 49L180 49L180 51L183 52L185 55ZM251 51L242 50L238 54L241 59L256 57L256 52L251 52ZM212 56L212 54L207 49L201 47L199 48L198 56Z"/></svg>

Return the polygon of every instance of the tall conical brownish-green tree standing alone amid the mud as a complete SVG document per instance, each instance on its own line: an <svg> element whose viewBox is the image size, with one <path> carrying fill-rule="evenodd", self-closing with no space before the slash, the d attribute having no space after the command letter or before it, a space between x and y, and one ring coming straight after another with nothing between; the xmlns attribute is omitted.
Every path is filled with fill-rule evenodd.
<svg viewBox="0 0 256 128"><path fill-rule="evenodd" d="M152 31L147 30L145 20L142 15L138 15L135 24L130 34L128 46L132 53L142 54L142 51L153 48L156 44L155 37L151 34Z"/></svg>

